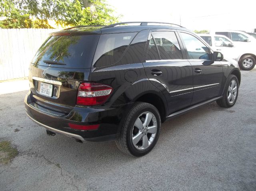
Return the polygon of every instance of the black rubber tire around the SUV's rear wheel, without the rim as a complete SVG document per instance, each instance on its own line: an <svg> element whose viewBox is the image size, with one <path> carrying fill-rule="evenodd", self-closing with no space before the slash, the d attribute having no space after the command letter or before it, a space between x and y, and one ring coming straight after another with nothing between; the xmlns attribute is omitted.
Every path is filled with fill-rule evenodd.
<svg viewBox="0 0 256 191"><path fill-rule="evenodd" d="M154 140L148 146L148 148L146 148L145 150L138 150L132 143L132 131L135 121L143 112L151 112L152 114L154 114L157 122L157 131ZM131 110L128 112L124 119L120 135L116 140L116 145L122 152L126 154L130 154L136 157L144 156L148 154L156 145L160 134L160 126L160 114L155 106L145 102L135 102L134 106L132 106Z"/></svg>

